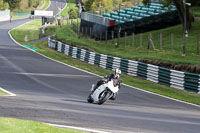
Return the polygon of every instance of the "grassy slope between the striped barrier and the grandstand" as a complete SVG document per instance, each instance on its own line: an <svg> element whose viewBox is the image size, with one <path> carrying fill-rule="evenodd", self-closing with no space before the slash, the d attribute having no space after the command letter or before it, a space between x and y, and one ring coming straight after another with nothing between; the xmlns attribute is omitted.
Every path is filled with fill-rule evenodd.
<svg viewBox="0 0 200 133"><path fill-rule="evenodd" d="M143 34L143 44L140 47L140 36L135 36L134 46L132 45L132 36L127 37L127 44L125 44L125 38L120 39L120 46L115 48L115 42L113 41L95 41L94 39L81 38L77 39L77 35L71 31L69 26L64 26L56 33L58 40L63 40L69 43L73 43L80 46L86 46L98 53L117 56L126 59L149 59L158 60L164 62L170 62L173 64L196 64L200 65L200 56L196 55L196 42L200 37L200 21L193 23L193 28L189 32L186 44L186 56L182 57L182 45L183 45L183 28L182 25L174 27L147 32ZM70 36L68 33L70 32ZM148 37L152 33L153 42L156 50L147 50ZM160 49L160 33L163 36L163 49ZM174 50L171 50L170 34L174 35Z"/></svg>

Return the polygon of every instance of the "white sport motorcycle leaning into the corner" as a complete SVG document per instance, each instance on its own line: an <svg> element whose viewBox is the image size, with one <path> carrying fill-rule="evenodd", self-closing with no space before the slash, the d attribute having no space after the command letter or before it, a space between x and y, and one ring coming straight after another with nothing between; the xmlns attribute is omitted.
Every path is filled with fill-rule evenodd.
<svg viewBox="0 0 200 133"><path fill-rule="evenodd" d="M115 97L118 91L119 82L117 79L112 79L111 81L104 81L104 83L100 85L95 91L94 85L92 85L91 93L88 96L87 101L89 103L97 103L101 105L108 99Z"/></svg>

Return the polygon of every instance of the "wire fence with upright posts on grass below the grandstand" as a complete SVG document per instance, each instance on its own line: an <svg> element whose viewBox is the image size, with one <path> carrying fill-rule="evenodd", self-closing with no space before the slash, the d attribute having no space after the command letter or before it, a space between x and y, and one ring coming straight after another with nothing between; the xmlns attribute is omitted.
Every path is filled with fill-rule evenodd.
<svg viewBox="0 0 200 133"><path fill-rule="evenodd" d="M68 24L69 25L69 24ZM72 21L71 29L76 32L78 37L81 38L93 38L94 32L91 27L80 27L79 22ZM80 29L79 29L80 28ZM100 36L96 39L102 44L115 44L117 42L118 34L115 31L101 32ZM107 37L108 34L112 34L111 39ZM123 37L121 37L123 36ZM200 34L191 34L187 38L186 52L187 54L199 55L199 37ZM182 53L183 49L183 38L184 34L177 30L163 31L163 32L152 32L152 33L140 33L134 34L129 32L120 32L120 45L121 47L129 48L144 48L150 49L153 43L154 49L169 50L173 52ZM149 43L150 46L149 46Z"/></svg>

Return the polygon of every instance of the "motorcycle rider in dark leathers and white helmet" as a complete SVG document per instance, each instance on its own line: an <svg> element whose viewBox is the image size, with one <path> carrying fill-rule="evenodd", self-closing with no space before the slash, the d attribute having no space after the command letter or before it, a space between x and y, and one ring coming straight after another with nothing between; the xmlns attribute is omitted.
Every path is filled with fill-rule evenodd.
<svg viewBox="0 0 200 133"><path fill-rule="evenodd" d="M120 79L120 74L121 74L121 70L120 69L115 69L114 73L108 74L106 77L104 77L104 79L101 79L100 81L97 82L97 84L94 86L93 91L94 92L100 85L102 85L105 81L111 81L112 79L115 79L118 81L118 86L119 89L121 87L121 79ZM113 97L111 97L111 100L115 100L116 99L116 94L114 94Z"/></svg>

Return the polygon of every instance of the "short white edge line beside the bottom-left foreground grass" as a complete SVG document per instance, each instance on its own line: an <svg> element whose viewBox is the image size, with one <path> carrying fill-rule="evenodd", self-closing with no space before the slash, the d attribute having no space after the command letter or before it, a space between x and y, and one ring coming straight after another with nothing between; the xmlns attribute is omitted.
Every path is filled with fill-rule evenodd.
<svg viewBox="0 0 200 133"><path fill-rule="evenodd" d="M50 124L50 123L46 123L46 124L48 124L50 126L54 126L54 127L68 128L68 129L74 129L74 130L81 130L81 131L92 132L92 133L110 133L110 132L98 131L98 130L93 130L93 129L88 129L88 128L82 128L82 127L65 126L65 125Z"/></svg>

